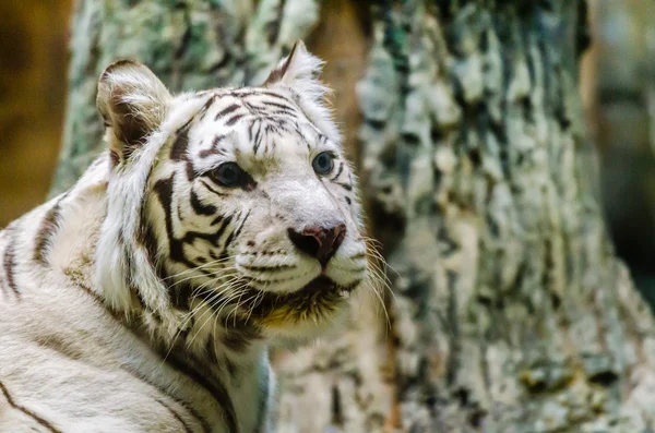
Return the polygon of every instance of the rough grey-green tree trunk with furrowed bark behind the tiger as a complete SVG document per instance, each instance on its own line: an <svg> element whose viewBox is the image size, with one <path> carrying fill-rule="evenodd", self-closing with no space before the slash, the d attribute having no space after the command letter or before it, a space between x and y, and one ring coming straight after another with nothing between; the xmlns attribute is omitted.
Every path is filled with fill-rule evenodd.
<svg viewBox="0 0 655 433"><path fill-rule="evenodd" d="M95 80L115 58L143 60L178 91L255 83L297 38L330 50L349 34L350 60L370 45L353 155L393 269L391 321L362 292L345 336L277 353L276 431L655 429L653 317L592 193L584 3L250 4L81 0L56 190L100 145ZM361 63L326 60L352 133L341 79Z"/></svg>

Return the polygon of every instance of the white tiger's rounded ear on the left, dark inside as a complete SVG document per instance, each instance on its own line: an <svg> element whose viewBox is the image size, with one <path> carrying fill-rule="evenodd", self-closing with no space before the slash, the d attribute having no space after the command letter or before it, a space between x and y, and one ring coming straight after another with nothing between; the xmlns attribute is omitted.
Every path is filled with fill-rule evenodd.
<svg viewBox="0 0 655 433"><path fill-rule="evenodd" d="M166 86L145 65L119 60L100 75L96 104L109 128L108 144L115 163L129 159L164 121L168 101Z"/></svg>

